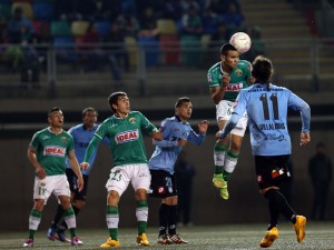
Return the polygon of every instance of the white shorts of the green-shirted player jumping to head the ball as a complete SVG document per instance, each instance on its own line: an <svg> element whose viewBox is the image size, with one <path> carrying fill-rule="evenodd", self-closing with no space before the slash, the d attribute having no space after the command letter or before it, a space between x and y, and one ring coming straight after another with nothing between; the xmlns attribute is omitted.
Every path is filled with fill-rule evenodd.
<svg viewBox="0 0 334 250"><path fill-rule="evenodd" d="M230 118L230 114L233 112L233 101L226 101L222 100L218 104L216 104L216 119L217 122L220 120L227 121ZM243 117L239 119L236 127L230 131L232 134L236 134L239 137L244 137L246 128L247 128L247 112L243 114Z"/></svg>

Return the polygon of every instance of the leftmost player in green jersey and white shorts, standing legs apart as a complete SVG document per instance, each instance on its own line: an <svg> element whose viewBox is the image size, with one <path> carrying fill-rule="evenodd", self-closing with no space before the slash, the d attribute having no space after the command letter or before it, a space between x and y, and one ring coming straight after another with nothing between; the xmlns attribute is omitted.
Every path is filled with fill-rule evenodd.
<svg viewBox="0 0 334 250"><path fill-rule="evenodd" d="M76 214L70 202L70 189L65 174L66 158L76 174L79 191L84 189L80 166L75 156L72 137L62 130L62 111L55 107L48 112L49 127L36 132L28 148L28 159L35 168L33 208L29 216L29 237L23 247L33 247L35 233L41 220L43 207L53 193L65 210L65 221L71 233L71 244L82 241L76 234ZM85 168L85 167L84 167Z"/></svg>

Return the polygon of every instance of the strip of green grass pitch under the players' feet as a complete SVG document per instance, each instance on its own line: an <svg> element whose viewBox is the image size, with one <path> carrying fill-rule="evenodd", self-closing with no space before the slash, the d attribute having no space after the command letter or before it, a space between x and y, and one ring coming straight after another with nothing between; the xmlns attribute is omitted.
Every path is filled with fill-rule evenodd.
<svg viewBox="0 0 334 250"><path fill-rule="evenodd" d="M136 244L136 229L119 229L119 249L261 249L258 243L265 234L266 224L222 224L178 228L183 238L189 241L187 244L159 246L156 243L157 229L148 229L150 247L139 247ZM306 238L302 243L297 243L292 224L284 222L279 224L279 237L271 249L334 249L334 223L333 222L308 222L306 226ZM99 249L108 238L107 229L78 230L84 244L79 249ZM73 247L59 241L50 241L46 238L46 231L40 230L36 236L33 249L73 249ZM22 243L27 232L0 233L0 249L22 249Z"/></svg>

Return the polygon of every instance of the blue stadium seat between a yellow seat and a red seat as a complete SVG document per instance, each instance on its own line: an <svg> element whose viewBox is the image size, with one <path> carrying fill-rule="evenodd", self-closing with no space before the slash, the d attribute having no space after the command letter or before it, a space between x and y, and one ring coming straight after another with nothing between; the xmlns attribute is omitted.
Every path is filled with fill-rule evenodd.
<svg viewBox="0 0 334 250"><path fill-rule="evenodd" d="M138 44L145 51L146 66L153 67L159 63L159 43L156 37L140 37Z"/></svg>

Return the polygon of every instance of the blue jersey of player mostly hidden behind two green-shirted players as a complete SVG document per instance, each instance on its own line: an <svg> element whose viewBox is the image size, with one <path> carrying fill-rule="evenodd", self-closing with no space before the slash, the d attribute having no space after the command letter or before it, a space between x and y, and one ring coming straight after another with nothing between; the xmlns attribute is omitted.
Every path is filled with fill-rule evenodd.
<svg viewBox="0 0 334 250"><path fill-rule="evenodd" d="M96 130L98 129L98 127L99 127L98 124L95 124L91 130L88 130L81 123L81 124L75 126L69 129L68 132L73 138L75 153L76 153L76 157L77 157L79 163L84 162L86 149L87 149L91 138L94 137ZM104 141L109 144L109 140L107 138L105 138ZM92 168L92 164L95 162L96 154L97 154L97 149L94 151L94 154L89 160L89 168L86 170L82 170L82 174L89 174L89 172ZM68 159L66 160L66 164L67 164L67 168L69 168L69 169L71 168Z"/></svg>

